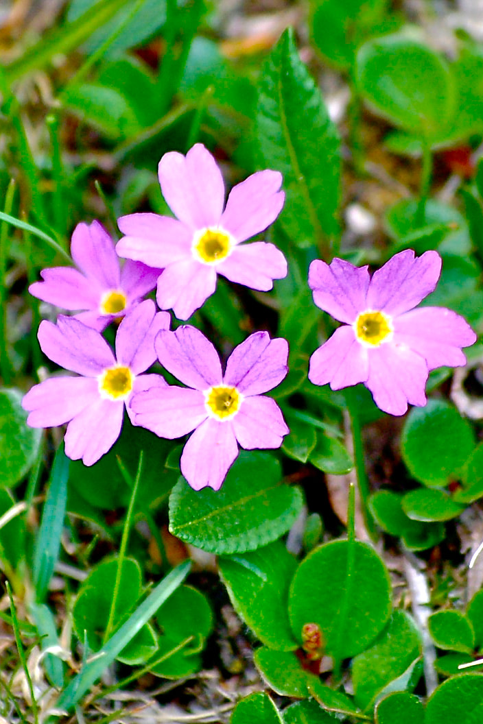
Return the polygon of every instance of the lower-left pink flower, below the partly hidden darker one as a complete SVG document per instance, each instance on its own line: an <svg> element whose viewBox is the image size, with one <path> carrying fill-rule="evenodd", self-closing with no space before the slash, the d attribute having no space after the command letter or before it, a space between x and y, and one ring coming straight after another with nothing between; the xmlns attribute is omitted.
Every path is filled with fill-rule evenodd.
<svg viewBox="0 0 483 724"><path fill-rule="evenodd" d="M42 321L38 341L43 353L79 377L51 377L35 384L22 400L31 427L67 424L65 453L93 465L116 442L124 408L135 392L167 383L158 374L140 374L156 360L154 337L169 328L169 314L154 302L141 302L127 313L116 335L116 355L104 337L78 319L59 316L57 324Z"/></svg>

